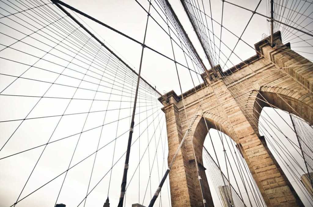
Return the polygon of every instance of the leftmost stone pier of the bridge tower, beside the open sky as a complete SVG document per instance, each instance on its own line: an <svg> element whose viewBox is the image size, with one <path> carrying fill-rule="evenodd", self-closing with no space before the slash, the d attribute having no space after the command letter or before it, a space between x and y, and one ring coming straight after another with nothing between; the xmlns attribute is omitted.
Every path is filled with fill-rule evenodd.
<svg viewBox="0 0 313 207"><path fill-rule="evenodd" d="M166 117L167 138L168 138L168 163L182 140L182 126L180 113L177 108L176 94L169 97L169 104L162 110ZM202 198L200 185L198 181L197 169L194 159L189 159L190 144L183 144L179 150L177 158L169 172L170 190L172 206L203 206L203 199L207 206L213 206L212 196L208 187L208 181L205 176L204 167L199 167L200 176L204 179L203 186L206 189L204 198Z"/></svg>

